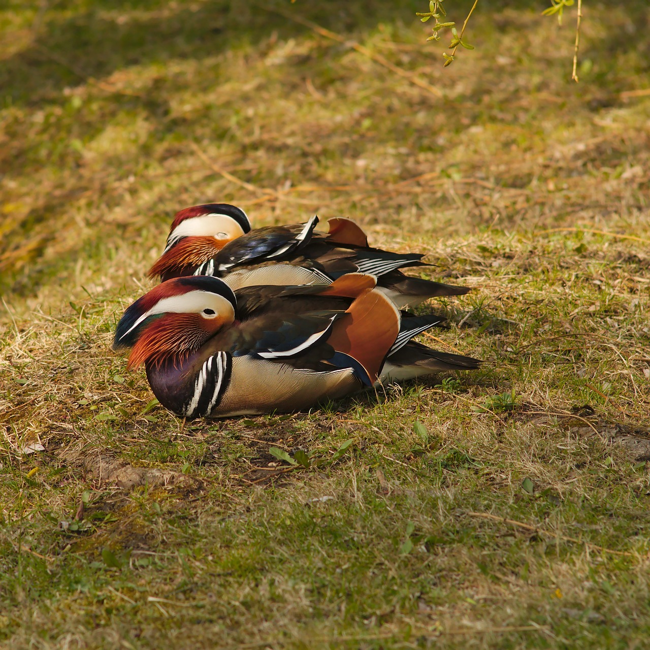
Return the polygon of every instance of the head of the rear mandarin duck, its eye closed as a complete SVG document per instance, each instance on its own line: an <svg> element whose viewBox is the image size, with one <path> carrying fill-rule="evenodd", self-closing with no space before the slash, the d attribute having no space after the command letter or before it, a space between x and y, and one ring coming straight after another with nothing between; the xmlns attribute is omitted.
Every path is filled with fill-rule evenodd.
<svg viewBox="0 0 650 650"><path fill-rule="evenodd" d="M149 269L162 279L191 274L226 244L250 232L246 213L228 203L186 207L174 216L164 252Z"/></svg>

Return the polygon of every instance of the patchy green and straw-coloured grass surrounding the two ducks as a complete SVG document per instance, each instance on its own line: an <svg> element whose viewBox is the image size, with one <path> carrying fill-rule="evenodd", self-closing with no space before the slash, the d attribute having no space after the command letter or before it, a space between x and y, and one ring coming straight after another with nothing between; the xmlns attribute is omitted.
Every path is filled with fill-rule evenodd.
<svg viewBox="0 0 650 650"><path fill-rule="evenodd" d="M585 8L580 85L542 5L477 10L444 71L419 2L278 5L343 44L273 6L0 10L0 644L643 647L646 3ZM110 340L207 200L427 252L473 292L423 340L484 369L172 417Z"/></svg>

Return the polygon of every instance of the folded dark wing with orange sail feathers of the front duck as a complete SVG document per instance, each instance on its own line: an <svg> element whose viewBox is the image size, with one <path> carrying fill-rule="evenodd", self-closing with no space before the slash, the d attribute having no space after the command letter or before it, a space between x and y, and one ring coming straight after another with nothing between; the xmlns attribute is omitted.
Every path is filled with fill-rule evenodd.
<svg viewBox="0 0 650 650"><path fill-rule="evenodd" d="M236 292L240 320L229 330L234 338L220 349L292 359L296 367L347 367L372 385L400 330L399 311L373 288L375 282L353 274L328 287L244 287ZM432 326L430 317L424 320L409 329L409 337Z"/></svg>

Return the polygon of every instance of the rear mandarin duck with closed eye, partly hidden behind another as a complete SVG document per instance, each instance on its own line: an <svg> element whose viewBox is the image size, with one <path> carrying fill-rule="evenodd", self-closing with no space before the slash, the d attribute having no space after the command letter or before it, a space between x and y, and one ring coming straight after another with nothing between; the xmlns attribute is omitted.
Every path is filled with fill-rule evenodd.
<svg viewBox="0 0 650 650"><path fill-rule="evenodd" d="M209 203L181 210L167 244L149 277L224 278L232 289L254 284L329 283L346 273L378 276L378 288L400 308L434 296L459 296L467 287L409 278L399 268L424 266L424 255L392 253L368 246L363 230L344 218L330 219L318 233L318 217L306 224L251 230L248 216L235 205ZM273 268L267 268L272 264Z"/></svg>

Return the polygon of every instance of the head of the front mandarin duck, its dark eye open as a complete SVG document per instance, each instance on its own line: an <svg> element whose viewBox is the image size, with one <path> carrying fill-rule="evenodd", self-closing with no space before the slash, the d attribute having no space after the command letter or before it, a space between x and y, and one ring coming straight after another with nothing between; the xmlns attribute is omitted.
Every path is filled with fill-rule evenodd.
<svg viewBox="0 0 650 650"><path fill-rule="evenodd" d="M237 300L220 279L190 276L167 280L123 313L113 349L132 348L127 368L165 361L180 365L235 320Z"/></svg>

